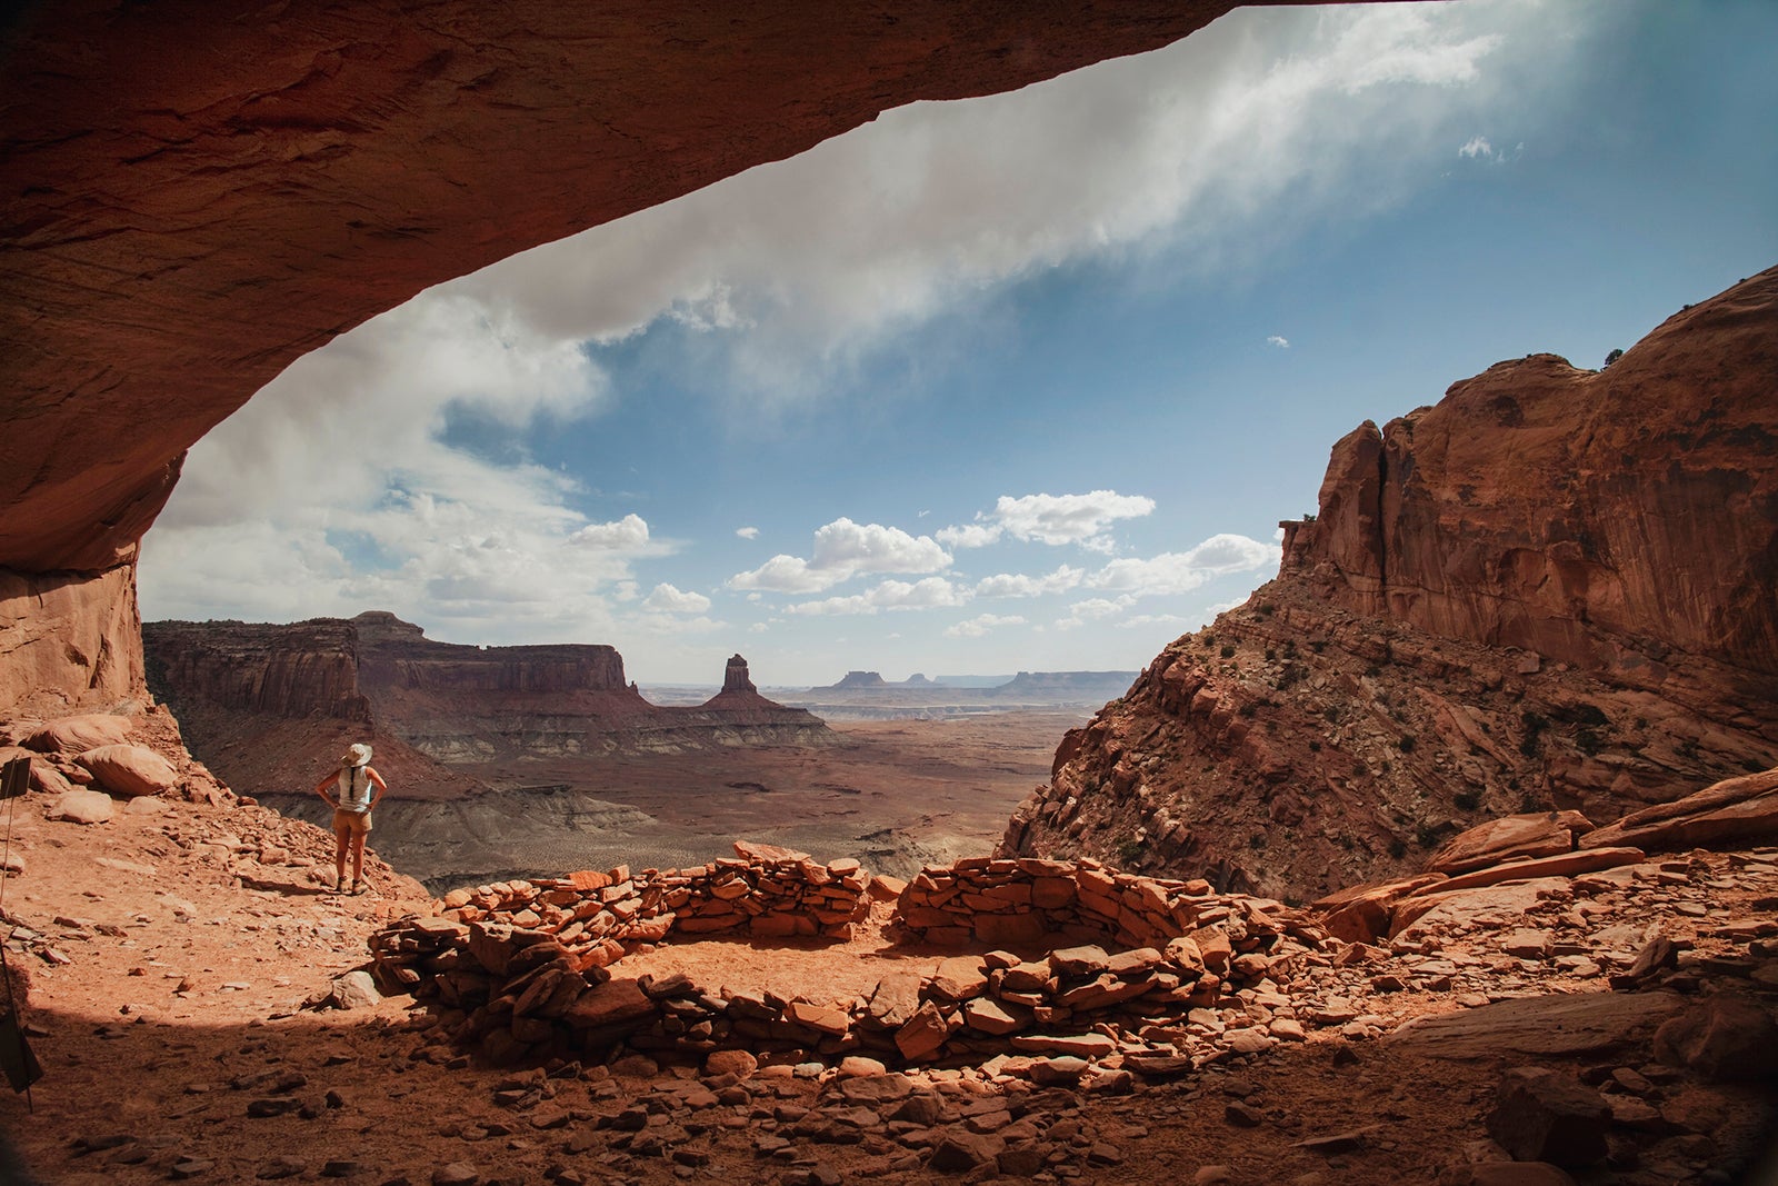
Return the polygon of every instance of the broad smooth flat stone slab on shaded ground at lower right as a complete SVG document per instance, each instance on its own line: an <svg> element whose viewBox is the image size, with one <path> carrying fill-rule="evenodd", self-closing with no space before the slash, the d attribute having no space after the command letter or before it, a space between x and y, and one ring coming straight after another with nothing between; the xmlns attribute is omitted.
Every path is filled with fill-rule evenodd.
<svg viewBox="0 0 1778 1186"><path fill-rule="evenodd" d="M1431 1058L1591 1054L1648 1038L1686 1006L1677 992L1575 992L1421 1017L1383 1040Z"/></svg>

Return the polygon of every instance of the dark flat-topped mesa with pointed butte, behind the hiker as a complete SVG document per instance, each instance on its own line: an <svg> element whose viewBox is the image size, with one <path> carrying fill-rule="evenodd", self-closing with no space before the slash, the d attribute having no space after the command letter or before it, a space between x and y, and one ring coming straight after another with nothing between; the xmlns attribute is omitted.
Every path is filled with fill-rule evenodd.
<svg viewBox="0 0 1778 1186"><path fill-rule="evenodd" d="M292 626L144 622L153 693L244 793L300 791L348 740L372 740L404 797L485 789L509 763L722 745L825 745L827 725L757 692L729 660L699 708L649 704L608 645L432 642L393 613ZM395 782L395 779L391 779Z"/></svg>

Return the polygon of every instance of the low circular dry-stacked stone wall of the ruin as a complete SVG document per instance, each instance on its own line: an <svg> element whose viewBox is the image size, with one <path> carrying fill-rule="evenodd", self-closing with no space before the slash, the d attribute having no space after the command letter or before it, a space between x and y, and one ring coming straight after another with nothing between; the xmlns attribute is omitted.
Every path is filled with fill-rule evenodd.
<svg viewBox="0 0 1778 1186"><path fill-rule="evenodd" d="M1218 894L1202 880L981 857L901 885L866 880L853 861L738 850L693 869L453 891L439 916L372 939L375 973L425 1003L450 1044L493 1063L745 1049L887 1065L1026 1054L1061 1060L1067 1074L1070 1058L1122 1049L1125 1067L1172 1074L1305 1037L1287 1015L1225 1031L1204 1010L1285 1005L1273 976L1328 958L1325 932L1282 903ZM891 973L845 1005L612 971L640 944L674 937L845 941L873 898L894 900L901 942L1040 955L944 958L932 974Z"/></svg>

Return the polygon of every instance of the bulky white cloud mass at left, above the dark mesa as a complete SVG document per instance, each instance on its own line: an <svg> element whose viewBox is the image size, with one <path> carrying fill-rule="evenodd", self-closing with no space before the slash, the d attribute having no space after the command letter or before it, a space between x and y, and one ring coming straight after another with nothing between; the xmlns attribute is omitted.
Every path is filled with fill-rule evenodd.
<svg viewBox="0 0 1778 1186"><path fill-rule="evenodd" d="M151 617L386 608L434 637L606 640L633 567L674 546L596 521L569 475L452 443L608 402L578 341L434 290L297 359L192 446L142 549Z"/></svg>

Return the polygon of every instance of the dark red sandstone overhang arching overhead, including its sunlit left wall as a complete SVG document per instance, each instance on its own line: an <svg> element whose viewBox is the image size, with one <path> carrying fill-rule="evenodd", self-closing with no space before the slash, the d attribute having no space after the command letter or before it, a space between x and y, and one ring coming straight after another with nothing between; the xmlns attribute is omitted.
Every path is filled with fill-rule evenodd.
<svg viewBox="0 0 1778 1186"><path fill-rule="evenodd" d="M300 354L885 108L1152 50L1232 7L171 0L9 16L0 711L140 693L137 542L185 450Z"/></svg>

